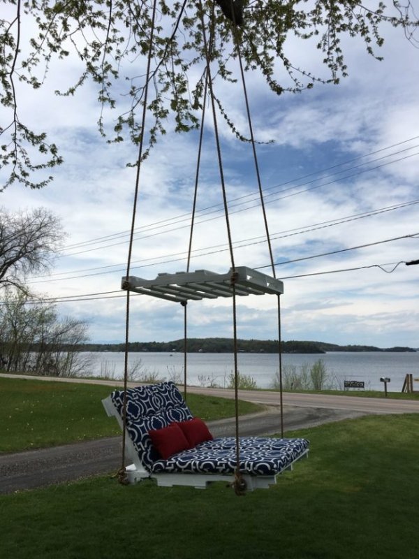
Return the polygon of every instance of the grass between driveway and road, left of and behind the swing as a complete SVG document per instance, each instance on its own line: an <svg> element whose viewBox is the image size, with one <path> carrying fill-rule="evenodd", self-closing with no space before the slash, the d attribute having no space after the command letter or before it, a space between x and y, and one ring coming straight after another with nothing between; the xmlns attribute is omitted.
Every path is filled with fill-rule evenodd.
<svg viewBox="0 0 419 559"><path fill-rule="evenodd" d="M110 386L0 377L0 452L119 435L117 421L101 403L111 392ZM205 421L235 414L234 401L227 398L189 394L188 403ZM261 407L240 402L239 409L249 414Z"/></svg>

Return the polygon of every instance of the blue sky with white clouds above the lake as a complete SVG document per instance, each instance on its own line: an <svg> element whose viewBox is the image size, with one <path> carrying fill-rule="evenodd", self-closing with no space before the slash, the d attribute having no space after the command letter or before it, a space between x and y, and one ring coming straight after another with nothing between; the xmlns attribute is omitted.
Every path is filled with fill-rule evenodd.
<svg viewBox="0 0 419 559"><path fill-rule="evenodd" d="M247 77L267 219L281 297L284 340L419 347L419 50L385 30L384 61L345 43L349 76L302 94L271 94ZM291 43L296 64L320 68L318 52ZM122 342L120 291L128 252L135 149L99 136L93 85L54 96L76 64L52 64L43 89L24 89L21 114L50 134L64 155L41 190L13 184L0 193L10 212L43 206L67 236L50 275L31 289L57 298L59 312L89 323L94 342ZM242 87L217 82L247 134ZM221 126L235 263L270 274L251 147ZM142 166L131 273L146 279L186 269L198 135L168 133ZM3 183L6 170L0 170ZM191 270L230 268L212 125L205 131ZM240 298L238 335L277 338L276 299ZM131 341L183 336L183 310L145 296L131 301ZM231 301L189 304L189 335L232 335Z"/></svg>

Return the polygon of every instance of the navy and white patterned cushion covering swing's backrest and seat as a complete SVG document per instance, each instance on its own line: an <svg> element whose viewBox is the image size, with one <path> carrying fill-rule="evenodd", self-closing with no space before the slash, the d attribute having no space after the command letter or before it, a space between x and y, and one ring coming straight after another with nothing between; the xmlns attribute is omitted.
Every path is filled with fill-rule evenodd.
<svg viewBox="0 0 419 559"><path fill-rule="evenodd" d="M122 416L124 391L114 391L112 402ZM162 460L152 445L149 431L167 427L172 421L192 419L182 394L172 382L128 389L126 428L144 467L152 473L184 472L232 474L237 465L234 437L219 437ZM305 439L240 437L240 472L276 475L308 449Z"/></svg>

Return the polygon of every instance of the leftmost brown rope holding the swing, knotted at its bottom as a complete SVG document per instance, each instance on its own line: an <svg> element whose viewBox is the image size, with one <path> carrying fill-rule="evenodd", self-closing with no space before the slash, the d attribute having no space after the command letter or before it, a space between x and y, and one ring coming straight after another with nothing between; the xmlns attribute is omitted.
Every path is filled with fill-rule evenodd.
<svg viewBox="0 0 419 559"><path fill-rule="evenodd" d="M135 189L133 198L133 212L131 218L131 231L128 245L128 259L126 263L126 277L128 278L131 271L131 258L133 252L133 238L135 229L135 217L138 205L138 193L140 191L140 170L142 161L142 150L144 145L144 131L145 131L145 118L147 114L147 98L149 89L150 67L152 63L152 51L154 45L154 24L156 20L156 0L154 0L152 8L152 25L150 29L149 52L147 56L147 70L144 89L144 103L142 106L142 122L140 132L140 143L138 146L138 159L137 159L137 173L135 175ZM126 405L127 405L127 387L128 387L128 342L129 342L129 317L130 317L130 291L126 290L126 321L125 321L125 354L124 354L124 402L122 405L122 463L121 468L117 474L119 483L128 484L128 479L125 470L125 441L126 441Z"/></svg>

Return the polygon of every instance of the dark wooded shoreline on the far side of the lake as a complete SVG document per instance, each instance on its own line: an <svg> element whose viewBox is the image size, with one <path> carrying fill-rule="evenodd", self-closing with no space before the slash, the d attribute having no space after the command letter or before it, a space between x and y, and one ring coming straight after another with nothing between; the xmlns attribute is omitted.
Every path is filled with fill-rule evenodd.
<svg viewBox="0 0 419 559"><path fill-rule="evenodd" d="M189 353L232 353L233 340L228 337L192 337L186 340ZM278 340L237 340L237 348L244 353L278 353ZM124 351L125 344L82 344L80 351ZM172 353L184 351L184 340L172 342L130 342L128 351L163 351ZM381 349L374 346L328 344L324 342L301 342L291 340L281 342L285 354L325 354L327 351L416 351L410 347Z"/></svg>

